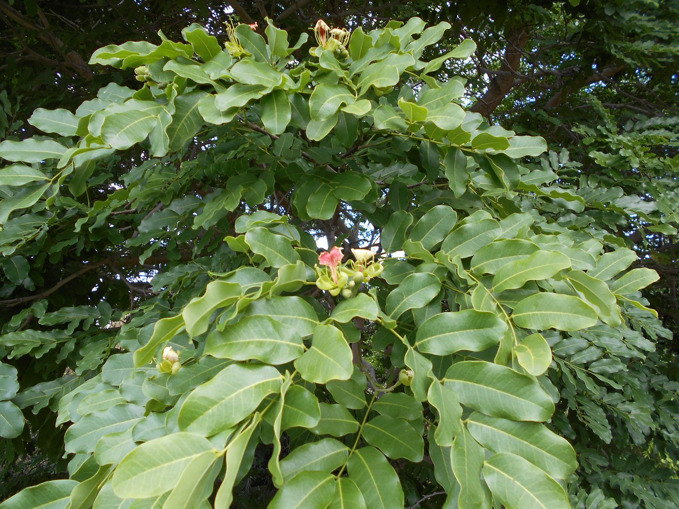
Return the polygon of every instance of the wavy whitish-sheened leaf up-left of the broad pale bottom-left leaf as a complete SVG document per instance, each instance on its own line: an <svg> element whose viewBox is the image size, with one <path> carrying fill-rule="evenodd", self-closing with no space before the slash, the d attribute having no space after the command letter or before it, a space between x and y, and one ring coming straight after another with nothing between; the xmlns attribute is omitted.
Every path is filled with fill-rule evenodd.
<svg viewBox="0 0 679 509"><path fill-rule="evenodd" d="M90 413L66 432L65 449L71 453L89 453L92 445L109 433L131 429L144 415L144 407L116 404L103 412Z"/></svg>

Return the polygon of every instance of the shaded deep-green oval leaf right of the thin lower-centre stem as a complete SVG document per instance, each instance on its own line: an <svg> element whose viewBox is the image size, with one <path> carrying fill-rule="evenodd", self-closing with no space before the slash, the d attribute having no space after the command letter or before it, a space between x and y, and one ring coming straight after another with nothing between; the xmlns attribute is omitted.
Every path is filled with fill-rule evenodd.
<svg viewBox="0 0 679 509"><path fill-rule="evenodd" d="M424 440L409 423L388 415L373 417L363 426L363 438L388 457L403 457L418 463L424 455Z"/></svg>

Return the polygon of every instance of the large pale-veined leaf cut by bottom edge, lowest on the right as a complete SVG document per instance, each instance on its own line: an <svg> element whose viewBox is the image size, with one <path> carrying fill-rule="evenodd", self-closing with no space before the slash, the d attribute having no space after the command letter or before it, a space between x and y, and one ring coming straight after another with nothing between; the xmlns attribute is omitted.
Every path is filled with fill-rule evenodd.
<svg viewBox="0 0 679 509"><path fill-rule="evenodd" d="M570 509L561 485L520 456L493 455L483 464L483 478L507 509Z"/></svg>

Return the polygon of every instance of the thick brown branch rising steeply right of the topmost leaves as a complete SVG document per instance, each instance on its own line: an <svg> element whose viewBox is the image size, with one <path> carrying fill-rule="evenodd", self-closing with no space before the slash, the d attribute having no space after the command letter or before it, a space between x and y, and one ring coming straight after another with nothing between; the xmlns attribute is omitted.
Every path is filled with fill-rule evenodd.
<svg viewBox="0 0 679 509"><path fill-rule="evenodd" d="M519 69L521 52L528 42L529 35L528 26L521 26L510 35L507 47L504 48L504 57L499 73L490 80L488 91L469 111L481 113L488 118L502 102L502 99L509 94L514 86L514 75Z"/></svg>

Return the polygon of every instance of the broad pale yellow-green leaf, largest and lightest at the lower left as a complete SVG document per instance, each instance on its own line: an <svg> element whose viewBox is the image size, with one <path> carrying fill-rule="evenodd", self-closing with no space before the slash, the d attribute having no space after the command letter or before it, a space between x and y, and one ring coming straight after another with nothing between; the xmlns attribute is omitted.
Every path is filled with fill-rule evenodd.
<svg viewBox="0 0 679 509"><path fill-rule="evenodd" d="M183 472L198 457L217 451L207 438L193 433L173 433L135 447L115 468L111 483L121 498L162 495L177 486Z"/></svg>

